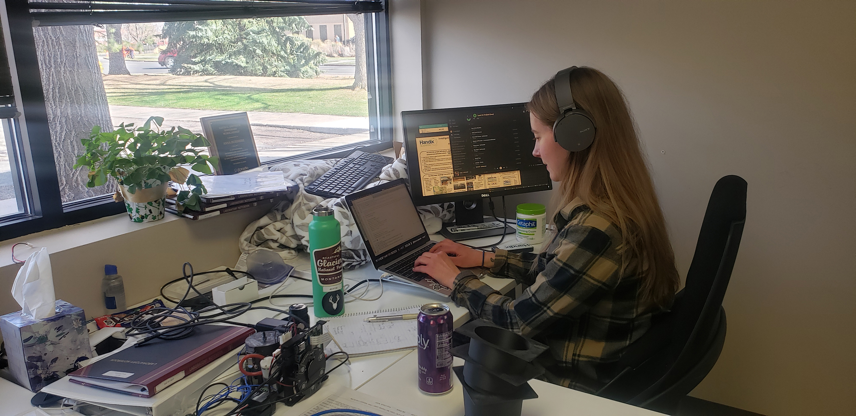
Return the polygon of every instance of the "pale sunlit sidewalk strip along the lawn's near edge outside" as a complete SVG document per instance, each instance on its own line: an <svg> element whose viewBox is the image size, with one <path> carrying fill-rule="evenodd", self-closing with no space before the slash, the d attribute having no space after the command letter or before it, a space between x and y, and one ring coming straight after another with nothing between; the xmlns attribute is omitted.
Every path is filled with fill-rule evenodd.
<svg viewBox="0 0 856 416"><path fill-rule="evenodd" d="M199 118L201 117L220 116L235 112L239 111L162 109L135 107L131 105L110 105L110 116L113 117L145 119L150 116L160 116L164 119L179 122L199 122ZM314 133L357 134L367 132L369 129L368 117L271 113L266 111L247 111L247 116L249 116L250 125L252 126L296 128Z"/></svg>

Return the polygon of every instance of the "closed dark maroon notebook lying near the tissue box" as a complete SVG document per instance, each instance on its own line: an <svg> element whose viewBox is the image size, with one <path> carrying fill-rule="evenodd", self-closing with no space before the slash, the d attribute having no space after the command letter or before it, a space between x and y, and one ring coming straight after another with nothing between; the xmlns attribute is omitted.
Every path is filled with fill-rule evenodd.
<svg viewBox="0 0 856 416"><path fill-rule="evenodd" d="M180 340L155 339L129 347L68 374L72 383L152 397L223 354L241 347L255 330L242 326L199 325Z"/></svg>

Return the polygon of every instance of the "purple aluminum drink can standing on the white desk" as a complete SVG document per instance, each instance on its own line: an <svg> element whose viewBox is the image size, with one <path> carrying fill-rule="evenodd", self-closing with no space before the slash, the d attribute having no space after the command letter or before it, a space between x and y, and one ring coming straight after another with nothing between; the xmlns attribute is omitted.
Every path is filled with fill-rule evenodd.
<svg viewBox="0 0 856 416"><path fill-rule="evenodd" d="M452 390L452 312L442 303L429 303L419 310L417 320L419 389L444 395Z"/></svg>

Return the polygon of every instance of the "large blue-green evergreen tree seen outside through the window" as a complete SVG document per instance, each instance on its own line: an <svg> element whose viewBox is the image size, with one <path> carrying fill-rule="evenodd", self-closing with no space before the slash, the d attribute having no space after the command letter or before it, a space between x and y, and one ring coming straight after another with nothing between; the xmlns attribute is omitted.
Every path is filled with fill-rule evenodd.
<svg viewBox="0 0 856 416"><path fill-rule="evenodd" d="M173 74L313 78L326 56L299 34L300 16L163 24L169 49L177 51Z"/></svg>

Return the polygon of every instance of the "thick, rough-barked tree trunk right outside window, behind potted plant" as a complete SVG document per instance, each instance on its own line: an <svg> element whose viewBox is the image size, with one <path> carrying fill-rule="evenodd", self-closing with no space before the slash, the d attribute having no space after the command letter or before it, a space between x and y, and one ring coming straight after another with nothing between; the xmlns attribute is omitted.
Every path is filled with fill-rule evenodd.
<svg viewBox="0 0 856 416"><path fill-rule="evenodd" d="M113 193L115 181L86 187L88 171L71 169L83 153L80 139L89 137L92 126L112 130L113 125L92 26L36 27L33 35L62 202Z"/></svg>

